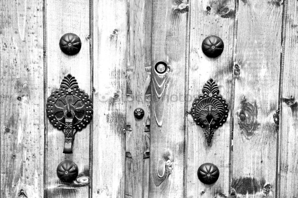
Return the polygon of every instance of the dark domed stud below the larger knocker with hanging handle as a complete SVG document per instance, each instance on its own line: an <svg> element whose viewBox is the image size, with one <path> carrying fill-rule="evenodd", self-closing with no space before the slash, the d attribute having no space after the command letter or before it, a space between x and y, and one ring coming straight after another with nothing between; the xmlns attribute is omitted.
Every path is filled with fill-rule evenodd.
<svg viewBox="0 0 298 198"><path fill-rule="evenodd" d="M60 180L65 182L72 182L77 178L78 168L77 164L72 161L65 160L57 167L57 176Z"/></svg>

